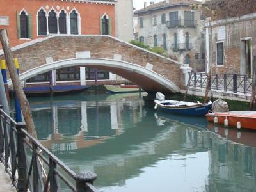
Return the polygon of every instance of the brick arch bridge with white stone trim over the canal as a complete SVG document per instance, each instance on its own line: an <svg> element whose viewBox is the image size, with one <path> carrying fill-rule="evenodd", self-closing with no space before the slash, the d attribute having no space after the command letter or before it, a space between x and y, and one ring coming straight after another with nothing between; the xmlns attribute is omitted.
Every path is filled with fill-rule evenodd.
<svg viewBox="0 0 256 192"><path fill-rule="evenodd" d="M184 88L190 70L187 65L106 35L48 36L13 47L12 52L19 59L21 81L58 68L84 66L113 72L146 92L174 93ZM3 51L0 59L4 59Z"/></svg>

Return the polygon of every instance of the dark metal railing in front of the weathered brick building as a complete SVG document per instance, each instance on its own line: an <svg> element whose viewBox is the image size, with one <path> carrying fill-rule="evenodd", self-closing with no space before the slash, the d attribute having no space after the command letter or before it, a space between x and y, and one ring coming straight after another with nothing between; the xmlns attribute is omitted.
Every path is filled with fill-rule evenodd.
<svg viewBox="0 0 256 192"><path fill-rule="evenodd" d="M192 73L189 80L190 88L206 88L207 74ZM220 90L223 92L252 93L252 76L239 74L211 74L209 82L210 90Z"/></svg>

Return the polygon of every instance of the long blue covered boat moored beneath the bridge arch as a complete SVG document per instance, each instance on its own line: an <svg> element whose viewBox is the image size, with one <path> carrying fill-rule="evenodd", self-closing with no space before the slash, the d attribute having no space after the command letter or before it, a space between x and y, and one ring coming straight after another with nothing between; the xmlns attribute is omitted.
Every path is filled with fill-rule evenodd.
<svg viewBox="0 0 256 192"><path fill-rule="evenodd" d="M88 89L89 86L81 85L56 85L53 86L54 95L65 95L68 93L83 92ZM42 96L49 95L51 93L50 86L31 86L23 88L26 95L29 96Z"/></svg>

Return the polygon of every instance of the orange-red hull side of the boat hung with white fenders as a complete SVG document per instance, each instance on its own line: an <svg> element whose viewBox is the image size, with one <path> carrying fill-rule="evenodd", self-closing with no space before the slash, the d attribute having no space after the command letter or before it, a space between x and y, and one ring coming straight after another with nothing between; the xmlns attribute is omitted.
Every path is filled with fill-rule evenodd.
<svg viewBox="0 0 256 192"><path fill-rule="evenodd" d="M206 115L207 120L209 122L214 122L214 118L218 118L218 124L224 125L224 121L227 118L228 120L228 125L232 127L237 127L237 122L241 123L241 128L244 129L253 129L256 130L256 116L255 117L250 117L250 116L234 116L234 115L214 115L211 113L208 113Z"/></svg>

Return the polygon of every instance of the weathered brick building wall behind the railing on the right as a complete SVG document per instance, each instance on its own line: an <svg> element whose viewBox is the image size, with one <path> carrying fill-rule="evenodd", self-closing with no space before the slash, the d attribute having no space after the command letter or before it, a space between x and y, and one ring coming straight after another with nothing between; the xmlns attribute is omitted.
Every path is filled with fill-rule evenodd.
<svg viewBox="0 0 256 192"><path fill-rule="evenodd" d="M256 13L207 22L207 70L251 76L256 56Z"/></svg>

